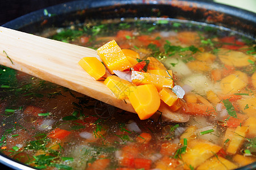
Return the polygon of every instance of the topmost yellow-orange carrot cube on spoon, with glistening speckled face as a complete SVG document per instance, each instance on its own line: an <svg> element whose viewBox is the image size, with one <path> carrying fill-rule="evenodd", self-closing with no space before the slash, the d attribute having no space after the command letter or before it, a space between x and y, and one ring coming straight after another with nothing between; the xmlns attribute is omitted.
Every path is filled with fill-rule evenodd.
<svg viewBox="0 0 256 170"><path fill-rule="evenodd" d="M113 70L123 71L132 66L115 40L102 45L97 52L111 74L114 74Z"/></svg>

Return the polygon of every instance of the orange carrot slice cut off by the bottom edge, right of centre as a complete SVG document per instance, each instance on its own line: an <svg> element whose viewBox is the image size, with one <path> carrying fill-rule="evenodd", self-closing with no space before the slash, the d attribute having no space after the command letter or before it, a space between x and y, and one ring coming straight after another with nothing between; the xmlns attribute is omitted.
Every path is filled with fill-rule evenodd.
<svg viewBox="0 0 256 170"><path fill-rule="evenodd" d="M236 164L230 162L229 160L222 158L221 156L214 156L211 159L206 160L203 164L197 167L197 170L205 170L205 169L218 169L218 170L226 170L226 169L235 169L238 168Z"/></svg>

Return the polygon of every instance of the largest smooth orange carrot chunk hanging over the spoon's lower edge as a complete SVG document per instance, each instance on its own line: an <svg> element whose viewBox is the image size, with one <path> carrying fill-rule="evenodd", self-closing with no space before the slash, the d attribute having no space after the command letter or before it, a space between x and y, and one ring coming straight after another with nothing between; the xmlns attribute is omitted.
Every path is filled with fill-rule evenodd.
<svg viewBox="0 0 256 170"><path fill-rule="evenodd" d="M158 90L153 84L131 86L128 98L141 120L150 118L160 107Z"/></svg>

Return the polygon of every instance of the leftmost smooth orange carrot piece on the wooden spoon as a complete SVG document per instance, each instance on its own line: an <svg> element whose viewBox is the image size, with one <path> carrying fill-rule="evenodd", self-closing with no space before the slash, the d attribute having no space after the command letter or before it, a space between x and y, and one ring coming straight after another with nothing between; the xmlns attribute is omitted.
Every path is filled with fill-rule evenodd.
<svg viewBox="0 0 256 170"><path fill-rule="evenodd" d="M96 80L106 73L105 66L96 57L84 57L80 59L79 65Z"/></svg>

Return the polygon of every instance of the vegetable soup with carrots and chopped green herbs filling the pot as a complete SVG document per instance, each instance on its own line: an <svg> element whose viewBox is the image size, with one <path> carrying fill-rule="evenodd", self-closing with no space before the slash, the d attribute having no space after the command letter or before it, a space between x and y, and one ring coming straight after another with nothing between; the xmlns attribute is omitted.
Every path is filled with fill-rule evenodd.
<svg viewBox="0 0 256 170"><path fill-rule="evenodd" d="M94 49L115 40L142 60L158 59L185 91L171 107L161 105L190 118L179 123L158 111L140 120L0 66L3 154L39 169L236 169L255 162L255 41L168 20L71 23L40 35Z"/></svg>

